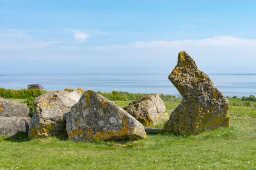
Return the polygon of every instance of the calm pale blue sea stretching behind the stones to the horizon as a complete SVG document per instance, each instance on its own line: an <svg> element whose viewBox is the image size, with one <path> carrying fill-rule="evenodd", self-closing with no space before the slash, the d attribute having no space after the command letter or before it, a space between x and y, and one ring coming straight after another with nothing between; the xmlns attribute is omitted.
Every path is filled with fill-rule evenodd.
<svg viewBox="0 0 256 170"><path fill-rule="evenodd" d="M256 74L209 74L225 96L256 96ZM5 74L0 75L0 87L26 89L28 84L40 83L46 90L93 89L132 93L158 93L179 96L168 80L168 74Z"/></svg>

